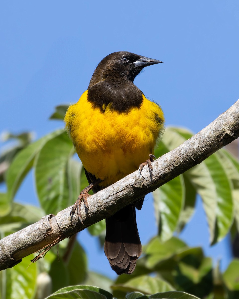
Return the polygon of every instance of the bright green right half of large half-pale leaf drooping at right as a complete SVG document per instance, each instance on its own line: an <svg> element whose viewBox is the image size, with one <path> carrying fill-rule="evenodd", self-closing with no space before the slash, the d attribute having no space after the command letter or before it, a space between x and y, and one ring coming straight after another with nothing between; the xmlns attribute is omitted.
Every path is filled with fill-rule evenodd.
<svg viewBox="0 0 239 299"><path fill-rule="evenodd" d="M212 244L215 244L226 236L232 225L232 185L217 153L208 157L205 164L214 182L217 196L216 230L212 240Z"/></svg>

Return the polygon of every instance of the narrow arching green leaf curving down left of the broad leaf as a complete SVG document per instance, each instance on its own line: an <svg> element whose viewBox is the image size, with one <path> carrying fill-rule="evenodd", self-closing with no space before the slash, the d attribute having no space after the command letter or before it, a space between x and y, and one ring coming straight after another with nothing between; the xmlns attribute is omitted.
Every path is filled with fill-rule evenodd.
<svg viewBox="0 0 239 299"><path fill-rule="evenodd" d="M63 132L63 130L57 130L42 137L41 139L29 144L21 152L19 152L18 155L16 155L7 171L6 184L8 198L10 201L13 200L13 197L15 196L20 184L29 170L32 168L36 154L46 141L59 134L59 132Z"/></svg>

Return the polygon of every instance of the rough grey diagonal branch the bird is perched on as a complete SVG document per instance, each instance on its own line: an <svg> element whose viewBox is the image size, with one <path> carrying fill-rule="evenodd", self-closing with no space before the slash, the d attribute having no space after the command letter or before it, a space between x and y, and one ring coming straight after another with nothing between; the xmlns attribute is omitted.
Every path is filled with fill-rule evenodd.
<svg viewBox="0 0 239 299"><path fill-rule="evenodd" d="M239 100L199 133L154 162L154 176L148 169L143 176L135 171L88 199L90 210L82 203L82 225L77 216L71 221L72 207L57 215L47 215L21 231L0 241L0 270L20 263L23 257L50 247L71 237L88 226L113 215L126 205L154 191L176 176L201 163L218 149L239 136Z"/></svg>

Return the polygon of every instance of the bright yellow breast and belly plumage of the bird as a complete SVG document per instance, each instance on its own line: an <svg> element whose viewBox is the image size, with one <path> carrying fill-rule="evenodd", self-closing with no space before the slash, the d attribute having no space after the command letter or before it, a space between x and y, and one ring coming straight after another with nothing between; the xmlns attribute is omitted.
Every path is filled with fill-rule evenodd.
<svg viewBox="0 0 239 299"><path fill-rule="evenodd" d="M69 107L65 122L83 166L106 187L137 170L153 154L164 118L161 108L144 95L140 108L119 112L93 108L85 91Z"/></svg>

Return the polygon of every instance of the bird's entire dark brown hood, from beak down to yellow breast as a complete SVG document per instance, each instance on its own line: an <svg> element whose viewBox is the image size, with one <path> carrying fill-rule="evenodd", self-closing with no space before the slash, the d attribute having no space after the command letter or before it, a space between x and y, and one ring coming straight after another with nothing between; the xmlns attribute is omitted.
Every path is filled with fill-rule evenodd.
<svg viewBox="0 0 239 299"><path fill-rule="evenodd" d="M129 112L140 108L143 92L133 81L142 69L162 61L130 52L114 52L106 56L96 67L88 87L88 101L104 113L105 108Z"/></svg>

